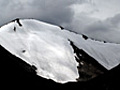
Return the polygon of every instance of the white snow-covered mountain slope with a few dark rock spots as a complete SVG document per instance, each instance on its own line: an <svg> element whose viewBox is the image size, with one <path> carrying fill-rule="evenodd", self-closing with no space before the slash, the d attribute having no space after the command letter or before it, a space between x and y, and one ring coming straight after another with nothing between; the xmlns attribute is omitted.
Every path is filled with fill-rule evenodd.
<svg viewBox="0 0 120 90"><path fill-rule="evenodd" d="M22 26L14 21L0 28L0 45L36 66L39 76L59 83L76 81L78 63L69 40L108 70L120 63L119 44L85 40L82 35L33 19L19 22Z"/></svg>

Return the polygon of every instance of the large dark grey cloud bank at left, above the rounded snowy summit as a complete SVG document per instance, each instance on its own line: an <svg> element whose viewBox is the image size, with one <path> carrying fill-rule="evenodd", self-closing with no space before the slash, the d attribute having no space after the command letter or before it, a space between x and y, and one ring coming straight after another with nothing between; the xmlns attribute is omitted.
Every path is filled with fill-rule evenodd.
<svg viewBox="0 0 120 90"><path fill-rule="evenodd" d="M35 18L61 25L70 23L74 11L72 4L82 4L88 0L0 0L0 25L15 18Z"/></svg>

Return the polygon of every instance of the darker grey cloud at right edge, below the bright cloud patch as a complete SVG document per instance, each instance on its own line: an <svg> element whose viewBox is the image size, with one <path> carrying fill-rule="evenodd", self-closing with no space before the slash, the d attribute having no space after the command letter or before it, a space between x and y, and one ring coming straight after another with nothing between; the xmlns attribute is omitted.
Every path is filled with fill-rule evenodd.
<svg viewBox="0 0 120 90"><path fill-rule="evenodd" d="M107 18L106 20L103 21L96 21L90 25L88 25L85 29L86 32L97 32L97 31L101 31L101 32L108 32L110 30L117 30L120 27L120 14L115 15L114 17L111 18ZM119 30L118 30L119 31ZM92 33L91 32L91 33Z"/></svg>

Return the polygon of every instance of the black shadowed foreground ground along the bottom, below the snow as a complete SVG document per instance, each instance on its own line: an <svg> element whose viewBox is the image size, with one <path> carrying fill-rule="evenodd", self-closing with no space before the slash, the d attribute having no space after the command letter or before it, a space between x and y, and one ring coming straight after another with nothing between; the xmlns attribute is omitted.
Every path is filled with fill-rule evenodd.
<svg viewBox="0 0 120 90"><path fill-rule="evenodd" d="M11 55L1 46L0 46L0 57L1 57L0 59L1 86L3 86L3 88L17 87L23 89L27 87L27 88L34 88L34 90L38 88L39 89L71 88L74 90L75 89L80 89L80 90L119 90L120 89L119 87L120 66L117 66L116 68L110 71L105 71L104 74L98 75L97 77L88 81L58 84L52 80L47 80L37 76L35 72L36 68L34 66L30 66L21 59L15 57L14 55ZM88 63L85 62L85 64L87 64L86 66L89 66ZM88 69L88 68L84 70L87 70L87 72L89 70L95 71L94 69ZM102 70L102 72L103 71L104 70ZM88 72L87 74L89 75L90 72Z"/></svg>

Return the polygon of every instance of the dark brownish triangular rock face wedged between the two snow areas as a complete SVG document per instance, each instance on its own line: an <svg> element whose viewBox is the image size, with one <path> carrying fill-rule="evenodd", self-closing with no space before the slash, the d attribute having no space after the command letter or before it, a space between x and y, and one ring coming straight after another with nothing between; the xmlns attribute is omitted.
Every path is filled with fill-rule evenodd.
<svg viewBox="0 0 120 90"><path fill-rule="evenodd" d="M87 81L93 79L107 71L84 50L77 48L72 41L70 41L70 44L74 49L76 61L79 63L78 71L80 77L78 78L78 81Z"/></svg>

